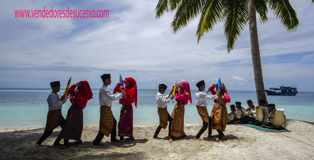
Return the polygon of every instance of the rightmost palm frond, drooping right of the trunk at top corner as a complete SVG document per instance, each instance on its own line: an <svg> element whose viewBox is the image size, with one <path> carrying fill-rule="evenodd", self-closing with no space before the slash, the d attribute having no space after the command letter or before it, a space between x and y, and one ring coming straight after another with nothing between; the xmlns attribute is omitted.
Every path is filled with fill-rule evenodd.
<svg viewBox="0 0 314 160"><path fill-rule="evenodd" d="M268 0L268 5L288 32L293 32L297 29L300 23L289 0Z"/></svg>

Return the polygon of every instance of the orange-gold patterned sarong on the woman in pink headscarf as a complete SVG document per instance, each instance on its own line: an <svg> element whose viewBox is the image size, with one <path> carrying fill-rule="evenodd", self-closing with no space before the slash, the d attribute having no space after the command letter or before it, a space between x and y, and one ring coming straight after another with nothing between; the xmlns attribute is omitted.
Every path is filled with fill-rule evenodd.
<svg viewBox="0 0 314 160"><path fill-rule="evenodd" d="M175 137L182 137L184 132L184 104L177 103L172 111L171 118L171 135Z"/></svg>

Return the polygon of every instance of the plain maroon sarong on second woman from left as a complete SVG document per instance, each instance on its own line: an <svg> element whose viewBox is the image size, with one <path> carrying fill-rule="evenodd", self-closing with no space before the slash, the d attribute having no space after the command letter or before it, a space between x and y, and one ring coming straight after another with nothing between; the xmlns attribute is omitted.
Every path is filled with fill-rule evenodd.
<svg viewBox="0 0 314 160"><path fill-rule="evenodd" d="M118 123L118 136L133 136L133 106L132 104L124 105L120 112Z"/></svg>

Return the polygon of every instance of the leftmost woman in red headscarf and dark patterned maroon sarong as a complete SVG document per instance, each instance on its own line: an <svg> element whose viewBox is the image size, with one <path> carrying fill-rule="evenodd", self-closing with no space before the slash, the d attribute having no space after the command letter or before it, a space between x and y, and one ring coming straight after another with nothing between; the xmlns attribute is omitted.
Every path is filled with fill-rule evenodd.
<svg viewBox="0 0 314 160"><path fill-rule="evenodd" d="M78 89L75 91L75 88ZM87 81L80 81L75 83L68 89L68 94L71 95L70 101L72 103L68 110L65 123L57 139L63 139L63 146L60 149L69 148L69 139L75 140L76 143L83 143L81 141L83 130L83 109L86 107L87 101L93 98L93 92L89 87ZM57 140L56 140L57 141Z"/></svg>

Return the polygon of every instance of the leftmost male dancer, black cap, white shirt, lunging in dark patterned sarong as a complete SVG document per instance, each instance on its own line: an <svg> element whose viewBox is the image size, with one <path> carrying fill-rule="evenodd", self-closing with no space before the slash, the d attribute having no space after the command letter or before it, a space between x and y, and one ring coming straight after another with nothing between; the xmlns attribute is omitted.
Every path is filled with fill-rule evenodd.
<svg viewBox="0 0 314 160"><path fill-rule="evenodd" d="M52 134L53 129L60 126L62 128L65 119L62 116L61 108L62 102L64 99L68 98L66 95L61 96L60 93L60 81L55 81L50 83L52 92L49 94L47 98L48 102L48 114L47 114L47 122L44 134L41 138L36 142L36 147L40 147L41 143L45 141L45 139ZM53 145L61 145L60 140L57 138Z"/></svg>

